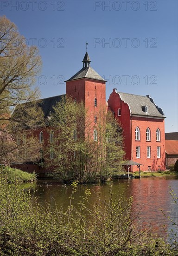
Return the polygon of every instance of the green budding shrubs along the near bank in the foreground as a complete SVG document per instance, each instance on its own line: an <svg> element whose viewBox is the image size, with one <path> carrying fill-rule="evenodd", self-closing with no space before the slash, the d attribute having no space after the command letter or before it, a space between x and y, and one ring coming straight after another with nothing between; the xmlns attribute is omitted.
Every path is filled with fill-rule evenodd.
<svg viewBox="0 0 178 256"><path fill-rule="evenodd" d="M0 255L178 255L175 239L167 243L167 237L163 239L143 230L139 212L133 215L133 198L126 199L126 192L118 197L110 186L108 198L102 201L96 193L95 204L89 205L90 190L86 189L75 209L72 201L77 183L72 186L68 210L63 211L51 209L48 204L42 207L30 192L1 178Z"/></svg>

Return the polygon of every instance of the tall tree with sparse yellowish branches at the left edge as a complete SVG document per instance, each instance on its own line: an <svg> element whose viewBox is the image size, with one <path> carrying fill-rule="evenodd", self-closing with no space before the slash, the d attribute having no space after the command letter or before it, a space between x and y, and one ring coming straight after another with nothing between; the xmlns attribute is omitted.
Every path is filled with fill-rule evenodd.
<svg viewBox="0 0 178 256"><path fill-rule="evenodd" d="M27 46L15 24L1 16L0 163L32 160L32 152L37 152L32 130L43 125L43 113L36 101L40 92L34 86L40 69L38 48Z"/></svg>

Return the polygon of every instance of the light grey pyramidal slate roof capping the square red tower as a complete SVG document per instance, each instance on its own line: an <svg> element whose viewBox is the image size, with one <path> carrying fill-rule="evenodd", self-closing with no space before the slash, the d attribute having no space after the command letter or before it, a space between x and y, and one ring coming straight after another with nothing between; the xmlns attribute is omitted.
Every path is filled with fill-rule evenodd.
<svg viewBox="0 0 178 256"><path fill-rule="evenodd" d="M107 82L92 67L87 67L85 69L82 68L81 70L79 70L75 75L73 75L67 81L81 79L81 78L90 78L90 79L95 79L95 80L100 80L100 81Z"/></svg>

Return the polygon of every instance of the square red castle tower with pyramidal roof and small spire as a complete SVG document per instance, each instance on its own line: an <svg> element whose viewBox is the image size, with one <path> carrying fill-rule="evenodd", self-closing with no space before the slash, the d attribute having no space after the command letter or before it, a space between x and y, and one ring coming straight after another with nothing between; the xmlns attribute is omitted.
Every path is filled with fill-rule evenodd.
<svg viewBox="0 0 178 256"><path fill-rule="evenodd" d="M90 67L89 54L83 58L83 68L66 82L66 95L74 101L83 101L93 127L97 126L97 115L106 108L106 81Z"/></svg>

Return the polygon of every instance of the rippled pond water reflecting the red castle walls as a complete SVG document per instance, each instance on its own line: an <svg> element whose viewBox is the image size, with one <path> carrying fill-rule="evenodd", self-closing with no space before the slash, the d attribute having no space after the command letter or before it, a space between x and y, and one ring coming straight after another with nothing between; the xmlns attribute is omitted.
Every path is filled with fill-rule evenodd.
<svg viewBox="0 0 178 256"><path fill-rule="evenodd" d="M109 184L87 184L78 185L77 191L72 200L72 205L77 207L81 197L84 196L85 189L90 189L91 195L89 202L94 204L97 200L97 195L100 192L101 198L108 198ZM116 195L121 195L126 191L125 198L130 195L134 198L133 213L140 209L140 218L143 227L150 227L157 230L159 234L163 231L162 226L165 224L166 229L171 229L171 223L165 218L160 209L167 216L171 216L178 224L178 205L173 202L170 195L170 189L178 195L178 179L172 177L153 177L125 180L120 179L112 181L113 192ZM70 203L70 195L72 192L71 185L61 185L52 180L38 180L33 186L34 194L38 197L38 202L45 206L45 202L49 202L52 207L55 204L58 209L61 207L65 210Z"/></svg>

